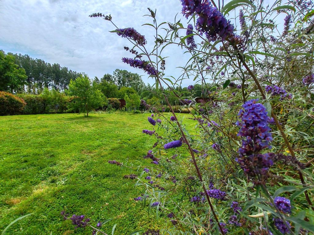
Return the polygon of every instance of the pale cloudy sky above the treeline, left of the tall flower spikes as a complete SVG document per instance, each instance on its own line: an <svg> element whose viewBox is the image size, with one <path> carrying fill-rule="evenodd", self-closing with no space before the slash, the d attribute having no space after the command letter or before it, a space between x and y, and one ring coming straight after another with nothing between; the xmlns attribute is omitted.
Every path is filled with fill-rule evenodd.
<svg viewBox="0 0 314 235"><path fill-rule="evenodd" d="M143 17L149 13L147 7L157 9L159 23L174 22L177 13L182 23L187 22L180 14L179 0L0 0L0 49L59 63L90 78L100 78L116 68L145 75L122 63L122 57L132 57L123 49L131 47L127 39L108 32L115 29L109 21L88 15L110 13L118 27L134 27L153 42L152 29L141 26L152 23L151 18ZM165 51L164 56L172 56L166 61L167 75L180 76L176 66L188 59L183 52L175 46ZM147 75L143 81L152 82Z"/></svg>

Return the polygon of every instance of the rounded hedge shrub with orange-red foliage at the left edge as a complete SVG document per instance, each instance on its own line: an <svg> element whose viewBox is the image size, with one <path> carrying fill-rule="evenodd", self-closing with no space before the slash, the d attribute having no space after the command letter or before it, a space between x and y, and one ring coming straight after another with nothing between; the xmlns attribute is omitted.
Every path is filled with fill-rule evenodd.
<svg viewBox="0 0 314 235"><path fill-rule="evenodd" d="M11 93L0 91L0 115L13 115L23 111L25 101Z"/></svg>

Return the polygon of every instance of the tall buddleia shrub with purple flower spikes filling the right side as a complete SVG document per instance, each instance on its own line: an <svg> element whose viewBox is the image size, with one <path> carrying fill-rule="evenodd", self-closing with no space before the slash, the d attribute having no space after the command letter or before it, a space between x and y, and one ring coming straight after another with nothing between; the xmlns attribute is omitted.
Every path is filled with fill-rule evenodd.
<svg viewBox="0 0 314 235"><path fill-rule="evenodd" d="M194 27L179 21L161 29L167 23L159 24L149 9L152 50L137 31L113 31L142 52L122 60L155 80L171 112L152 110L148 117L152 130L143 133L156 143L143 158L152 160L152 169L138 176L144 196L134 199L143 196L143 205L165 218L162 234L313 233L313 3L181 4ZM171 44L191 55L182 67L183 76L195 77L189 97L176 94L165 77L171 57L158 48ZM165 89L191 111L195 130L173 111Z"/></svg>

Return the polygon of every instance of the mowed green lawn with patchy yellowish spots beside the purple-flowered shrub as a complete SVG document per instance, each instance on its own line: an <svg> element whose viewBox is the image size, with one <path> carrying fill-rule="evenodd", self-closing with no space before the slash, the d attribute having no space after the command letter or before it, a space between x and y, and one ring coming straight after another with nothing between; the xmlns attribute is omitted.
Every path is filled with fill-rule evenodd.
<svg viewBox="0 0 314 235"><path fill-rule="evenodd" d="M123 176L135 170L108 164L151 165L143 159L156 140L142 133L152 129L148 115L0 117L0 232L33 213L5 234L91 234L64 221L62 210L96 222L112 218L103 228L110 234L114 224L115 234L163 227L164 219L133 200L143 189Z"/></svg>

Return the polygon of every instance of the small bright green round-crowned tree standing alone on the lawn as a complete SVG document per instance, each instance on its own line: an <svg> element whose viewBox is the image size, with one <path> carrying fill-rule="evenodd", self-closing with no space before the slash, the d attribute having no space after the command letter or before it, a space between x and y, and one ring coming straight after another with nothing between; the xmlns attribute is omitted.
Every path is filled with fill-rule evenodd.
<svg viewBox="0 0 314 235"><path fill-rule="evenodd" d="M71 80L69 84L69 95L74 96L73 102L69 103L70 109L78 107L79 112L88 112L92 109L102 107L105 103L104 95L91 85L88 76L79 76Z"/></svg>

